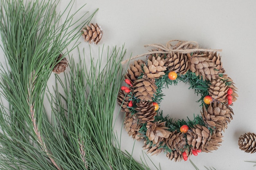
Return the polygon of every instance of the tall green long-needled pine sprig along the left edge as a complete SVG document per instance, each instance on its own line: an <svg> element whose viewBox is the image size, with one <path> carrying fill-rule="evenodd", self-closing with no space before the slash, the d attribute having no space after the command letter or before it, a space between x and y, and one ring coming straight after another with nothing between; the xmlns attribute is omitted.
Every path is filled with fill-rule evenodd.
<svg viewBox="0 0 256 170"><path fill-rule="evenodd" d="M61 13L56 0L0 3L1 47L8 65L1 62L0 68L0 169L73 169L76 162L65 157L66 143L58 143L66 138L57 138L59 127L53 124L58 120L48 119L43 101L58 55L64 57L69 44L74 43L70 51L76 47L80 29L96 11L72 14L74 1Z"/></svg>

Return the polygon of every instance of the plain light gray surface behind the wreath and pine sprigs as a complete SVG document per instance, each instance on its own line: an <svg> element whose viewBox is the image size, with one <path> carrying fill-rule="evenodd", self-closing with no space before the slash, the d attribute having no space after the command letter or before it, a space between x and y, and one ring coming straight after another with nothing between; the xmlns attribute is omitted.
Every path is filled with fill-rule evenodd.
<svg viewBox="0 0 256 170"><path fill-rule="evenodd" d="M223 67L238 87L238 100L232 106L234 119L223 133L222 146L212 153L200 153L191 160L200 168L213 166L217 170L254 170L256 153L249 154L238 147L238 137L245 132L256 133L256 1L254 0L76 0L73 11L81 4L87 3L84 10L99 11L92 19L103 29L103 38L98 45L91 45L92 52L105 46L122 46L127 49L126 59L147 52L145 44L166 44L169 40L197 41L202 48L222 49ZM67 2L61 0L59 10L65 9ZM88 50L88 43L80 38L81 47ZM74 57L78 58L76 53ZM0 61L4 60L0 50ZM126 65L124 66L126 68ZM49 80L53 84L54 76ZM188 85L164 90L165 97L161 103L164 114L176 119L193 118L200 113L199 99ZM116 108L118 110L118 106ZM116 115L118 111L116 111ZM123 113L117 117L115 130L122 131L121 146L132 152L134 141L121 128ZM135 142L133 156L140 161L143 157L143 142ZM194 169L189 161L173 162L164 153L152 156L150 159L162 170ZM149 163L153 168L153 165Z"/></svg>

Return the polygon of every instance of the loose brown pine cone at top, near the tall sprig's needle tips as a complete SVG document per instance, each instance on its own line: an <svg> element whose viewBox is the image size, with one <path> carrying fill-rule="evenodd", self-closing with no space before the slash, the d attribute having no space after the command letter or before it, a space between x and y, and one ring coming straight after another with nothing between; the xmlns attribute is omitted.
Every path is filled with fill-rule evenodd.
<svg viewBox="0 0 256 170"><path fill-rule="evenodd" d="M82 29L82 36L85 39L85 42L89 41L89 44L91 44L92 41L94 43L98 44L98 42L101 40L102 37L102 29L101 26L98 26L98 24L90 24L91 26L85 26Z"/></svg>

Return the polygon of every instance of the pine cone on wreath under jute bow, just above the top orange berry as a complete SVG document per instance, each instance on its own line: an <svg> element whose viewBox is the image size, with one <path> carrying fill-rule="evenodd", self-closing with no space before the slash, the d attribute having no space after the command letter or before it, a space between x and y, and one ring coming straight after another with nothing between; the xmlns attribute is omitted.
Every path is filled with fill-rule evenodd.
<svg viewBox="0 0 256 170"><path fill-rule="evenodd" d="M169 71L184 75L189 70L188 57L183 53L168 54L165 61Z"/></svg>

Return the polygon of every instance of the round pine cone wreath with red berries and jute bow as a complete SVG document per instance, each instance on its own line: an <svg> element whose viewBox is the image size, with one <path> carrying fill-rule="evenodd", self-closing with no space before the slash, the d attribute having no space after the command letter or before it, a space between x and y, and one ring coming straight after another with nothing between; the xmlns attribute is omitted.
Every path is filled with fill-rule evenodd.
<svg viewBox="0 0 256 170"><path fill-rule="evenodd" d="M130 64L125 74L127 86L121 87L117 97L125 112L128 135L138 141L144 139L143 148L148 153L164 151L174 161L217 150L222 131L234 115L230 106L238 97L233 80L222 67L221 50L199 49L197 42L179 40L171 40L166 46L147 46L153 49L132 58L146 56L146 61ZM178 82L189 83L201 95L201 115L194 120L173 121L159 109L162 89Z"/></svg>

